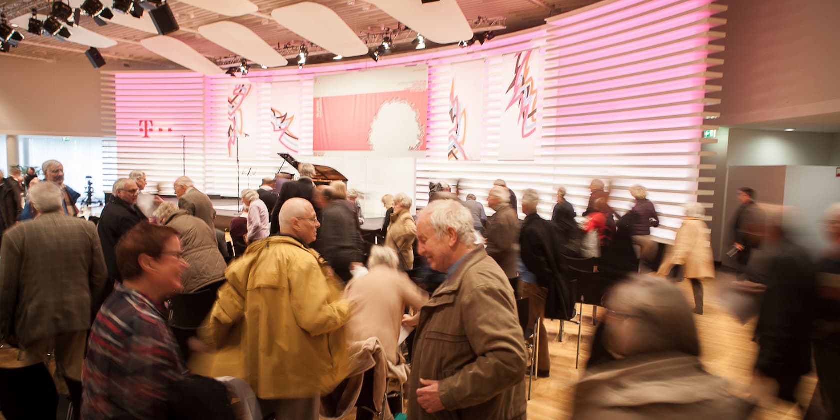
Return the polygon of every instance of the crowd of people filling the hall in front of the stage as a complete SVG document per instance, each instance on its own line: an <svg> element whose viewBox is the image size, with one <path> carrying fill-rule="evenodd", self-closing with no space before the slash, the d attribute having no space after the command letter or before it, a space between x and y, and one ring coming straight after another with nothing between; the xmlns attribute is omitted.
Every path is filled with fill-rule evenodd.
<svg viewBox="0 0 840 420"><path fill-rule="evenodd" d="M278 174L242 192L231 255L213 202L186 176L166 202L132 171L94 224L77 217L63 165L42 168L42 181L0 175L0 335L21 360L0 369L10 420L55 417L50 361L74 418L233 418L228 391L208 379L232 377L255 401L253 418L524 419L527 373L551 375L543 320L577 317L569 261L586 258L613 286L587 302L606 316L573 418L746 418L760 398L795 402L812 359L809 410L840 415L840 204L827 210L831 248L815 263L782 223L784 209L739 190L732 291L753 297L759 317L752 397L742 398L700 362L694 314L716 276L700 203L685 205L664 249L643 186L627 188L633 203L622 211L611 206L617 188L591 181L580 217L560 186L544 219L549 203L535 189L517 199L497 180L488 212L475 193L462 201L438 182L417 218L410 195L382 197L380 244L366 244L360 193L343 181L316 185L314 166L301 164L297 180ZM675 285L684 279L693 309ZM529 350L522 325L537 320ZM407 407L389 393L403 385Z"/></svg>

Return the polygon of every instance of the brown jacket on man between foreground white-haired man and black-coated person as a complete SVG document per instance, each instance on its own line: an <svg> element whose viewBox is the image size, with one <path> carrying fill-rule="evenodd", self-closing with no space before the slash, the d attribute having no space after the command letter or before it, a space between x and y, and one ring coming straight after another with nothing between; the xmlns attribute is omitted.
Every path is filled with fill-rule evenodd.
<svg viewBox="0 0 840 420"><path fill-rule="evenodd" d="M499 207L496 214L487 219L487 254L499 263L509 279L519 276L519 228L517 211L510 206Z"/></svg>

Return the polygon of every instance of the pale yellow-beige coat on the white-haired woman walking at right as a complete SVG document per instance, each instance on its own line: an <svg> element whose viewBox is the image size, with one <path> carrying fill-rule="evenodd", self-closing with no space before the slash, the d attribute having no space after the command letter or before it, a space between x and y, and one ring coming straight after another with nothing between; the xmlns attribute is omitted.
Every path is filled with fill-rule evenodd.
<svg viewBox="0 0 840 420"><path fill-rule="evenodd" d="M674 246L670 247L659 265L657 274L668 276L674 265L685 265L686 279L715 278L715 260L711 254L711 236L706 222L699 218L685 218Z"/></svg>

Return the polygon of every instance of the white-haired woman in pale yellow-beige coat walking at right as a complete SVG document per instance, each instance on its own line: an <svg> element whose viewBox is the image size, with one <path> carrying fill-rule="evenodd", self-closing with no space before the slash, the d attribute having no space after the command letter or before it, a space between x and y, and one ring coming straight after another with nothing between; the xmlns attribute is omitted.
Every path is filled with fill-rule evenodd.
<svg viewBox="0 0 840 420"><path fill-rule="evenodd" d="M705 279L715 278L715 260L711 253L709 227L703 221L706 214L703 205L691 202L685 205L685 218L674 246L665 254L657 274L668 276L675 265L683 266L683 276L691 281L694 291L694 312L703 314L703 283ZM682 281L682 279L678 279Z"/></svg>

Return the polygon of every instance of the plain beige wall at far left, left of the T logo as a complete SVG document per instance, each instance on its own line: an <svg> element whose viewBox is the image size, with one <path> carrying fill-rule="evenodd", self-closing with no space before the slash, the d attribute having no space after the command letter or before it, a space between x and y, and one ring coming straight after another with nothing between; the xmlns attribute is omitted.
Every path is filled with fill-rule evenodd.
<svg viewBox="0 0 840 420"><path fill-rule="evenodd" d="M102 137L99 71L81 60L0 59L0 133Z"/></svg>

